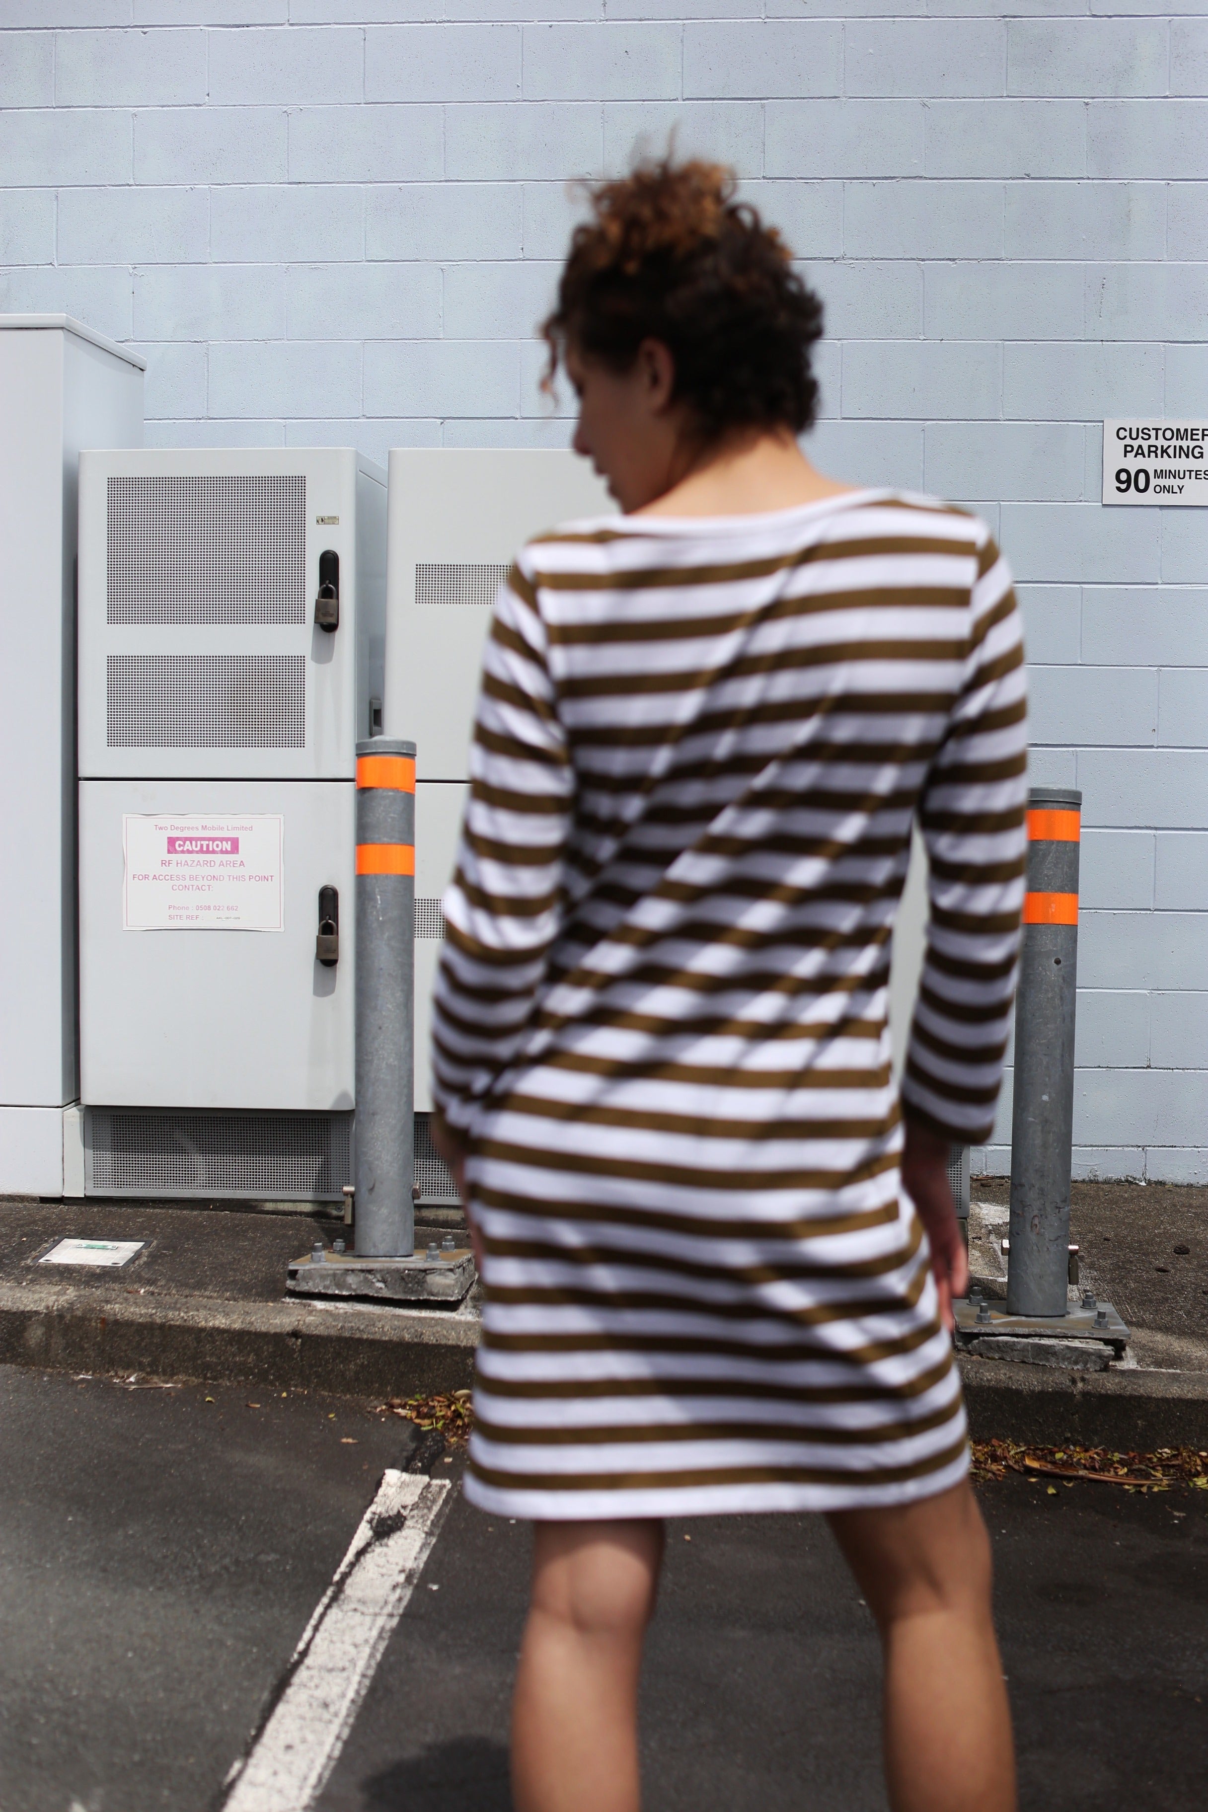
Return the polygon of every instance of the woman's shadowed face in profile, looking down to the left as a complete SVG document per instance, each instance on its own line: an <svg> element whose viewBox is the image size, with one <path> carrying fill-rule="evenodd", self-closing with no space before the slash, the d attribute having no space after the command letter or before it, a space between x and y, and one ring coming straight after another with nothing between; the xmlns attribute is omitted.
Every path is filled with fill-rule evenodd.
<svg viewBox="0 0 1208 1812"><path fill-rule="evenodd" d="M614 371L569 344L565 366L580 399L574 451L592 462L627 515L652 504L672 482L681 429L670 352L661 341L643 341L630 370Z"/></svg>

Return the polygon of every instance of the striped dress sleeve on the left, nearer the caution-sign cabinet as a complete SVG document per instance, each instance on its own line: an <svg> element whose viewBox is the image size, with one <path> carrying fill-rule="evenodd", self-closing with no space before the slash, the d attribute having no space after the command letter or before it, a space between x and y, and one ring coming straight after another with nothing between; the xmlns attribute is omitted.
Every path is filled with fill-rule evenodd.
<svg viewBox="0 0 1208 1812"><path fill-rule="evenodd" d="M522 553L500 587L433 1000L433 1098L467 1132L520 1047L558 935L574 770Z"/></svg>

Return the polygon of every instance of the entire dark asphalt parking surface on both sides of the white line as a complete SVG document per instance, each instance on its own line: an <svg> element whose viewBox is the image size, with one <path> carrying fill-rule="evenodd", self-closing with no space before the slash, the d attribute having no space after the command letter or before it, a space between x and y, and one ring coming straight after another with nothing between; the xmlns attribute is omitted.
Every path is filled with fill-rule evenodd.
<svg viewBox="0 0 1208 1812"><path fill-rule="evenodd" d="M210 1812L382 1471L460 1471L368 1402L263 1386L0 1368L0 1419L2 1812ZM1023 1812L1199 1812L1206 1499L982 1488ZM523 1524L453 1504L322 1812L505 1812L527 1560ZM877 1696L824 1524L670 1528L648 1812L884 1812Z"/></svg>

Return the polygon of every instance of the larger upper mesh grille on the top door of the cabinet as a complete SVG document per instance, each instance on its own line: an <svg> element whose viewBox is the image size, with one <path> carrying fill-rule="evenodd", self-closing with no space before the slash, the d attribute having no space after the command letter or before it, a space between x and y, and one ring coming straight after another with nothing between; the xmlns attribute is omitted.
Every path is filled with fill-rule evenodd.
<svg viewBox="0 0 1208 1812"><path fill-rule="evenodd" d="M110 623L304 623L306 478L109 480Z"/></svg>

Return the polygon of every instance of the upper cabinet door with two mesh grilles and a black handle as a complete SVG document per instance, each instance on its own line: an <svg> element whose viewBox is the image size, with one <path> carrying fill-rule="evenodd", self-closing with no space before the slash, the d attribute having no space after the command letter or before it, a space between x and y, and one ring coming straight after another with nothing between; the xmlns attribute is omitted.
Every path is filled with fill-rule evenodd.
<svg viewBox="0 0 1208 1812"><path fill-rule="evenodd" d="M353 779L355 478L326 448L81 453L81 777Z"/></svg>

